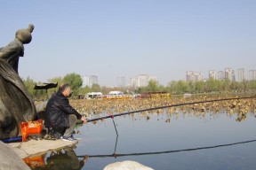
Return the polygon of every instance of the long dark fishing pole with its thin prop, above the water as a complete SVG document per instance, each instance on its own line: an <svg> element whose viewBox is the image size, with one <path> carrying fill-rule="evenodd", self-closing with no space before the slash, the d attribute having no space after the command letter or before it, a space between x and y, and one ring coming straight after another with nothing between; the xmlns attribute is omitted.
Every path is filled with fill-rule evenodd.
<svg viewBox="0 0 256 170"><path fill-rule="evenodd" d="M103 116L103 117L95 118L95 119L91 119L91 120L87 119L87 122L97 121L97 120L106 120L108 118L112 118L112 120L114 120L114 117L117 117L117 116L123 116L126 114L132 114L132 113L136 113L136 112L153 111L153 110L164 109L164 108L168 108L168 107L177 107L177 106L189 105L189 104L203 104L203 103L211 103L211 102L220 102L220 101L226 101L226 100L248 99L248 98L255 98L255 97L232 97L232 98L221 98L221 99L214 99L214 100L196 101L196 102L182 103L182 104L164 105L164 106L152 107L152 108L148 108L148 109L141 109L141 110L132 111L132 112L122 112L122 113L117 113L117 114L111 114L108 116ZM114 125L115 125L115 122L114 122ZM116 125L115 125L115 128L116 128ZM116 131L116 134L117 134L117 131Z"/></svg>

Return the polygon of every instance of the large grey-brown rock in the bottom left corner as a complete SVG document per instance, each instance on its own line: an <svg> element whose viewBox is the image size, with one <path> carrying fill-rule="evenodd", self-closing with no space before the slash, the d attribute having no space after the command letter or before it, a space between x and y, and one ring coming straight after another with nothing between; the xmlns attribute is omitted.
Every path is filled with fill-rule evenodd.
<svg viewBox="0 0 256 170"><path fill-rule="evenodd" d="M0 142L0 169L27 170L27 164L12 150L8 144Z"/></svg>

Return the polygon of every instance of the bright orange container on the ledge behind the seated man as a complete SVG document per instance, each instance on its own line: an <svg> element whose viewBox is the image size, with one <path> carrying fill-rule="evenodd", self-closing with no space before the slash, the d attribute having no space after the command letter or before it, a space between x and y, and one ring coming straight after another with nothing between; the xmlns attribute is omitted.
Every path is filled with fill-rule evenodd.
<svg viewBox="0 0 256 170"><path fill-rule="evenodd" d="M41 134L43 129L43 120L36 121L22 121L20 123L20 129L22 134L22 142L25 142L30 134Z"/></svg>

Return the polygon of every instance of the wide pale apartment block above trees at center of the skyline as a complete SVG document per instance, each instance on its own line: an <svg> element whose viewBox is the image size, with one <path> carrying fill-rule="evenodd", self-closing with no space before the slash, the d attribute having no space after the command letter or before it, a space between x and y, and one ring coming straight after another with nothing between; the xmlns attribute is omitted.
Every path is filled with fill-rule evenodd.
<svg viewBox="0 0 256 170"><path fill-rule="evenodd" d="M156 81L156 76L148 76L147 74L140 74L136 78L131 79L131 86L135 88L148 86L148 81Z"/></svg>

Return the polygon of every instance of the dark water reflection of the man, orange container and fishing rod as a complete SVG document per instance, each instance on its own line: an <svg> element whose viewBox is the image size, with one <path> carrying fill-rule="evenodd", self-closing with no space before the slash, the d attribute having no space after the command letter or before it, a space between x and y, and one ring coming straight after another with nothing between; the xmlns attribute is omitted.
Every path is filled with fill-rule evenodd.
<svg viewBox="0 0 256 170"><path fill-rule="evenodd" d="M176 152L184 152L184 151L200 151L200 150L209 150L214 148L220 148L220 147L228 147L231 145L238 145L238 144L244 144L244 143L254 143L255 140L250 141L244 141L244 142L238 142L238 143L226 143L226 144L219 144L214 146L205 146L205 147L199 147L199 148L188 148L183 150L172 150L172 151L151 151L151 152L137 152L137 153L116 153L116 145L118 142L118 136L116 136L116 144L115 144L115 150L113 154L99 154L99 155L81 155L76 156L76 152L74 149L76 146L73 147L67 147L63 148L58 151L52 151L50 155L47 157L46 154L39 156L42 158L45 158L45 162L42 162L42 158L34 157L30 158L32 162L30 162L27 159L27 164L32 169L53 169L53 170L80 170L83 169L85 163L90 158L119 158L119 157L130 157L130 156L145 156L145 155L159 155L159 154L167 154L167 153L176 153ZM34 161L34 162L33 162Z"/></svg>

